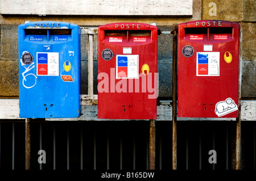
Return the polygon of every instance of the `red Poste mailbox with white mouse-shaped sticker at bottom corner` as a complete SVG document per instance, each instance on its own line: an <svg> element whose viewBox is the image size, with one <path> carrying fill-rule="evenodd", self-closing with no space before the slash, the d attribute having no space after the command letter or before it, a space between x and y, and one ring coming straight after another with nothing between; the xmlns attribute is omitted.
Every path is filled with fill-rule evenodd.
<svg viewBox="0 0 256 181"><path fill-rule="evenodd" d="M179 24L177 116L238 117L239 24Z"/></svg>

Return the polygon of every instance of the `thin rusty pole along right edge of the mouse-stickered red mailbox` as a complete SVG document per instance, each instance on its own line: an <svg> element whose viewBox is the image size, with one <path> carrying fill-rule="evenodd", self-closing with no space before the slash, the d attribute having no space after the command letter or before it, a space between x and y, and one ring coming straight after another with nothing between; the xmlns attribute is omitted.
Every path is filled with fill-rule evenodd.
<svg viewBox="0 0 256 181"><path fill-rule="evenodd" d="M242 23L239 42L239 78L238 78L238 117L236 127L236 170L241 170L241 86L242 86Z"/></svg>

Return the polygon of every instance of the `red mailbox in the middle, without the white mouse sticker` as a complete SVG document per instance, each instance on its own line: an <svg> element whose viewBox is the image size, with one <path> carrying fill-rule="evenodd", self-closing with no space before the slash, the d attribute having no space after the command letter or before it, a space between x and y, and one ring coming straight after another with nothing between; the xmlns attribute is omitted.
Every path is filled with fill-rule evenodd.
<svg viewBox="0 0 256 181"><path fill-rule="evenodd" d="M158 28L98 27L98 118L156 119Z"/></svg>

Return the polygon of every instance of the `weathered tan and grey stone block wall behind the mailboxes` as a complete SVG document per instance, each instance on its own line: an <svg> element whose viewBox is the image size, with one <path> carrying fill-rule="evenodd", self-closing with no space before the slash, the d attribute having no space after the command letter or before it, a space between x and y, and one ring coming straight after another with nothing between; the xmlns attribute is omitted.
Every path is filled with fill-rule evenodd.
<svg viewBox="0 0 256 181"><path fill-rule="evenodd" d="M1 1L1 12L3 12ZM11 2L11 1L10 1ZM21 1L17 1L21 2ZM25 2L25 1L24 1ZM77 1L79 2L79 1ZM166 2L166 1L160 1ZM191 3L190 0L179 1ZM61 15L15 15L5 10L0 15L0 98L18 98L18 25L25 20L31 22L40 20L55 20L78 24L81 27L97 27L113 22L156 22L162 31L171 31L172 24L184 23L201 19L220 19L242 23L242 99L256 98L256 53L255 53L255 4L256 0L193 0L192 16L65 16ZM179 5L179 4L177 4ZM176 6L174 6L176 7ZM214 9L216 7L216 9ZM179 7L177 7L179 9ZM13 13L13 12L12 12ZM17 12L18 13L18 12ZM171 14L170 14L171 15ZM186 15L186 16L184 16ZM172 75L172 35L159 35L158 37L158 70L159 70L159 97L171 99L171 75ZM82 94L87 94L88 77L88 38L82 35ZM94 94L97 94L97 36L94 36Z"/></svg>

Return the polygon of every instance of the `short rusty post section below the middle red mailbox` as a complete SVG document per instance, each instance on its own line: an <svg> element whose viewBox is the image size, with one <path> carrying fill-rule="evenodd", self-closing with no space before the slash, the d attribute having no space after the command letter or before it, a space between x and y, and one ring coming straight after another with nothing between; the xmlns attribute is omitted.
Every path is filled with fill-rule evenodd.
<svg viewBox="0 0 256 181"><path fill-rule="evenodd" d="M150 120L149 169L155 170L155 119Z"/></svg>

